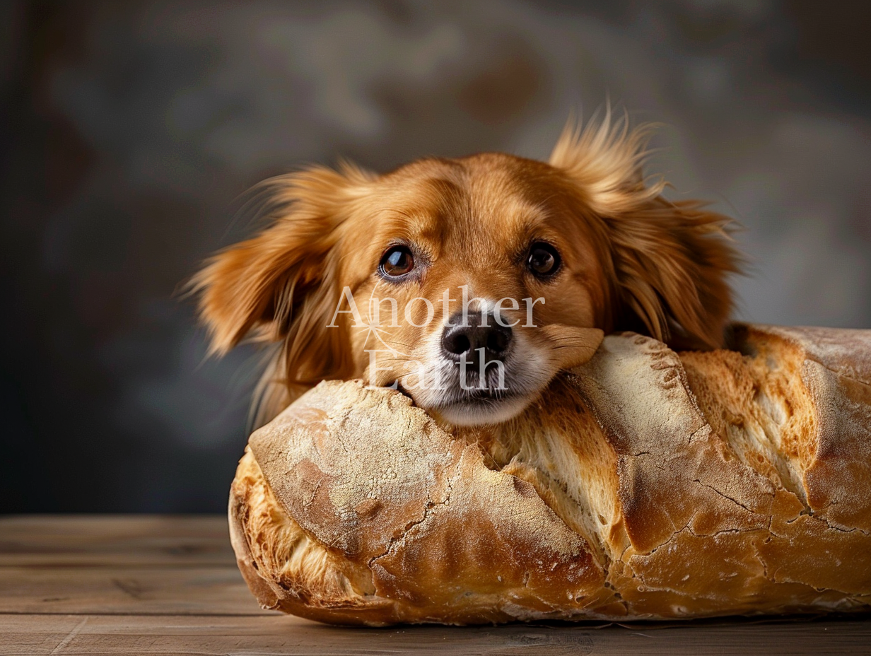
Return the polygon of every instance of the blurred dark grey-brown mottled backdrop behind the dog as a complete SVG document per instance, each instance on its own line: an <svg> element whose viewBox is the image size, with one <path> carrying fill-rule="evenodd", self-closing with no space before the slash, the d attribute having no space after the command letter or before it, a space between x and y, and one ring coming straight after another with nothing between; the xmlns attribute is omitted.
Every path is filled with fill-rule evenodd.
<svg viewBox="0 0 871 656"><path fill-rule="evenodd" d="M871 327L868 6L0 4L0 511L223 510L256 358L173 294L248 186L546 157L608 97L746 227L741 317Z"/></svg>

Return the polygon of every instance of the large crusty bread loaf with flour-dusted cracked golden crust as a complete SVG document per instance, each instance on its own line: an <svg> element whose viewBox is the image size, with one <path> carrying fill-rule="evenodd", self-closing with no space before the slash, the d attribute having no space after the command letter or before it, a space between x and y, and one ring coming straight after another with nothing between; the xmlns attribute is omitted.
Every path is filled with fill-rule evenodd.
<svg viewBox="0 0 871 656"><path fill-rule="evenodd" d="M610 335L478 429L323 382L251 436L240 569L262 605L345 624L868 609L871 331L730 346Z"/></svg>

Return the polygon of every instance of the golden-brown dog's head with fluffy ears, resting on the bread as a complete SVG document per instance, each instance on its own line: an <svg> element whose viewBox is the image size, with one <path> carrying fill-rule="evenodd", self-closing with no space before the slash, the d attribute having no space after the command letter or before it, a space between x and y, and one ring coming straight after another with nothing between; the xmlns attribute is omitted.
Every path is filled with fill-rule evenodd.
<svg viewBox="0 0 871 656"><path fill-rule="evenodd" d="M263 418L324 378L397 385L455 424L499 423L604 333L720 345L726 219L640 174L645 133L568 130L538 162L487 153L266 183L268 227L194 279L213 348L280 343Z"/></svg>

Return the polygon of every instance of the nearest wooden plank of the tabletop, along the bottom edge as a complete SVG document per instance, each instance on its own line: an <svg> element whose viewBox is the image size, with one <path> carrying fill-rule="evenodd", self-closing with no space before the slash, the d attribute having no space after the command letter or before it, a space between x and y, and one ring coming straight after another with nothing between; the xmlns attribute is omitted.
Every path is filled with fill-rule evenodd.
<svg viewBox="0 0 871 656"><path fill-rule="evenodd" d="M293 617L0 615L0 654L778 654L869 653L867 622L337 628ZM59 648L58 648L59 647Z"/></svg>

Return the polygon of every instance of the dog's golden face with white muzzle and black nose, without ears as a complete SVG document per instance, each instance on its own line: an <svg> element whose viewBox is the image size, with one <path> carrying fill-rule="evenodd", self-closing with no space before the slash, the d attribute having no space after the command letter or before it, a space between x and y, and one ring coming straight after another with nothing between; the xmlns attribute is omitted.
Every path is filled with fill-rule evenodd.
<svg viewBox="0 0 871 656"><path fill-rule="evenodd" d="M565 363L555 351L580 361L603 335L602 254L580 202L552 167L499 154L374 180L340 247L354 375L450 423L516 415ZM570 345L555 326L576 328Z"/></svg>

